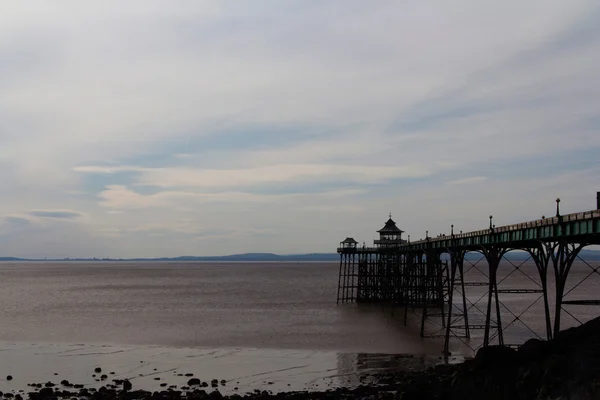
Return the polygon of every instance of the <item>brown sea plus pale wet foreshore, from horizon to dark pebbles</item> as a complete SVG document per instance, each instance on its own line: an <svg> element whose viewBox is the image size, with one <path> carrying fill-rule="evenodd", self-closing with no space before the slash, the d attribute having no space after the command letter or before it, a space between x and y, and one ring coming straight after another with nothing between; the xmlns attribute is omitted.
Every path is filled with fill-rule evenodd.
<svg viewBox="0 0 600 400"><path fill-rule="evenodd" d="M223 393L325 389L440 362L439 341L378 307L337 306L338 266L0 264L0 390L226 379ZM398 356L401 354L401 356ZM98 382L92 376L115 372ZM160 378L156 380L155 378Z"/></svg>

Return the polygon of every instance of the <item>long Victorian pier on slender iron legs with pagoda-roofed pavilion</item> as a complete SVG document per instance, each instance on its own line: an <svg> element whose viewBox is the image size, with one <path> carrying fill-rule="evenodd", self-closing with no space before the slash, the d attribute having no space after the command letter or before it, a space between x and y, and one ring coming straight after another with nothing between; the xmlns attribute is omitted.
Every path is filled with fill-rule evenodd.
<svg viewBox="0 0 600 400"><path fill-rule="evenodd" d="M565 314L579 321L569 306L600 305L600 292L596 298L574 297L586 280L600 276L599 262L581 257L584 248L600 245L600 192L596 203L595 210L562 215L556 199L553 217L497 227L490 215L485 229L457 233L452 225L449 234L426 233L418 241L404 239L390 214L373 246L360 246L351 237L340 243L337 302L400 310L405 325L409 314L418 315L421 337L442 337L446 356L452 339L469 343L475 331L483 334L481 346L519 346L505 341L506 330L515 324L529 329L532 337L549 340L560 331ZM518 252L512 253L518 261L507 257L509 252ZM574 265L582 271L567 288ZM501 285L514 274L520 279L513 280L524 284ZM501 298L511 295L533 296L531 306L542 304L541 334L525 316L531 306L515 310ZM507 321L503 313L510 316Z"/></svg>

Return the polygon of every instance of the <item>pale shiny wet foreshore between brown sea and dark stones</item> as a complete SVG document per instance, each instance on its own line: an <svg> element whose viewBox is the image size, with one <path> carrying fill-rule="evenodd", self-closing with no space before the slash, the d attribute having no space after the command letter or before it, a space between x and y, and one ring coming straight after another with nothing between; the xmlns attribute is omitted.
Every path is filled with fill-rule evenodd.
<svg viewBox="0 0 600 400"><path fill-rule="evenodd" d="M422 370L442 362L436 356L337 353L249 348L173 348L84 344L0 345L0 391L18 394L52 382L109 387L129 380L135 389L160 391L189 387L191 378L218 381L222 394L271 391L321 391L357 387L377 373ZM460 359L454 359L455 362ZM95 372L101 368L101 372ZM7 376L12 380L7 380ZM101 379L106 375L105 379ZM361 380L361 377L362 380ZM63 388L64 389L64 388ZM194 388L190 388L190 391ZM71 388L70 390L73 390Z"/></svg>

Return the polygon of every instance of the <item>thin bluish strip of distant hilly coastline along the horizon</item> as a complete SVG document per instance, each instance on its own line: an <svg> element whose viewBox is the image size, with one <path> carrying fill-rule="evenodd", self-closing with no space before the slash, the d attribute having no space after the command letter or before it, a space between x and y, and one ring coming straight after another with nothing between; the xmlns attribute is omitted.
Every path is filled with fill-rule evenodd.
<svg viewBox="0 0 600 400"><path fill-rule="evenodd" d="M600 250L582 250L580 257L586 261L600 261ZM481 254L468 253L465 257L467 260L476 261L482 258ZM510 261L525 261L529 259L529 254L522 251L513 251L505 255L505 259ZM28 261L28 262L44 262L44 261L162 261L162 262L338 262L340 256L337 253L306 253L306 254L274 254L274 253L243 253L231 254L226 256L179 256L179 257L138 257L138 258L20 258L20 257L0 257L0 262L4 261Z"/></svg>

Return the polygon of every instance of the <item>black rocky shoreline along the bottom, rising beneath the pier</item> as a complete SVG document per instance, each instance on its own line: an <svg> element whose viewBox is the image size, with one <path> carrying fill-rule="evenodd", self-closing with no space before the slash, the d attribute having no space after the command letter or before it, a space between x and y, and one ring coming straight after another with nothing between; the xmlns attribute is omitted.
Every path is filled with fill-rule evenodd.
<svg viewBox="0 0 600 400"><path fill-rule="evenodd" d="M325 391L241 393L235 387L236 382L202 380L191 373L178 374L188 379L187 385L161 382L164 390L148 391L134 387L127 379L113 379L114 373L102 373L100 367L93 376L103 384L99 389L63 380L58 384L30 383L27 390L3 393L0 397L9 400L600 399L600 318L562 331L548 342L529 340L518 351L490 346L461 364L437 365L420 371L365 373L356 387Z"/></svg>

